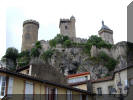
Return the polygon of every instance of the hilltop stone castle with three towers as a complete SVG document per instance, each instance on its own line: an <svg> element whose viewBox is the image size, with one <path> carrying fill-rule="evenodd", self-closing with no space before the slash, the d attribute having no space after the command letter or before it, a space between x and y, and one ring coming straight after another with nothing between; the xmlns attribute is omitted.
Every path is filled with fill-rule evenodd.
<svg viewBox="0 0 133 100"><path fill-rule="evenodd" d="M70 19L60 19L59 28L60 34L68 36L76 43L87 42L87 39L81 39L76 37L76 28L75 28L76 19L74 16L71 16ZM33 47L36 41L38 41L38 29L39 22L35 20L26 20L23 23L23 35L22 35L22 48L21 51L29 50ZM99 36L107 43L114 44L113 41L113 31L107 27L102 21L102 27L98 31ZM44 49L49 48L47 41L41 41Z"/></svg>

